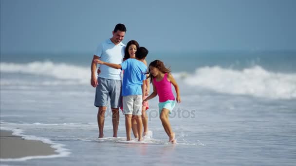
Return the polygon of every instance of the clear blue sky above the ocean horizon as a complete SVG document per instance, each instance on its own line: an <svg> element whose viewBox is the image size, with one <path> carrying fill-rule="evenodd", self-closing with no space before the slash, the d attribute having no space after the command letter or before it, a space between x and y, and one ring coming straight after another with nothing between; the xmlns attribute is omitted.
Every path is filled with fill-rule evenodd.
<svg viewBox="0 0 296 166"><path fill-rule="evenodd" d="M0 0L0 53L93 52L117 23L153 51L296 50L296 0Z"/></svg>

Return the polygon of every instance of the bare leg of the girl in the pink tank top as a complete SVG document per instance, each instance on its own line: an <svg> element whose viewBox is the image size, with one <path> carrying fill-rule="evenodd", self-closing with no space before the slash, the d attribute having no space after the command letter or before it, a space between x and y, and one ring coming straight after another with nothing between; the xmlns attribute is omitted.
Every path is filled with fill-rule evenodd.
<svg viewBox="0 0 296 166"><path fill-rule="evenodd" d="M169 142L175 143L175 133L172 132L169 120L168 120L169 110L164 108L160 114L160 120L163 124L163 127L166 131L167 136L169 137Z"/></svg>

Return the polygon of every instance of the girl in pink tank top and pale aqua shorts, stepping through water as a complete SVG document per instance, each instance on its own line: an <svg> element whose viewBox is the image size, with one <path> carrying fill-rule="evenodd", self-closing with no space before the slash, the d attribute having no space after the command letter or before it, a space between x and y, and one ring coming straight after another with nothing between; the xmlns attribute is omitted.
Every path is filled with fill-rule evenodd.
<svg viewBox="0 0 296 166"><path fill-rule="evenodd" d="M171 113L172 109L175 106L175 97L172 92L171 84L175 87L176 90L176 101L181 102L179 86L176 83L173 76L170 74L170 69L166 68L164 63L160 60L155 60L149 64L149 77L153 85L153 93L148 96L143 102L148 101L155 96L159 96L159 115L160 120L163 124L163 127L166 131L167 136L169 137L169 142L172 144L176 143L175 133L170 127L168 120L168 114Z"/></svg>

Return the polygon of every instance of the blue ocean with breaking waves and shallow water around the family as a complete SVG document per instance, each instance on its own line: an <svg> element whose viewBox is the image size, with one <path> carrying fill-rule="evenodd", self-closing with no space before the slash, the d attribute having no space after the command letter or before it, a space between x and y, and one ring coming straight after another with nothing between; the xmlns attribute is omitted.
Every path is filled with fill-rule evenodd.
<svg viewBox="0 0 296 166"><path fill-rule="evenodd" d="M151 51L148 64L155 59L180 87L170 115L176 145L167 142L158 97L149 100L151 138L127 142L122 114L112 138L110 108L97 138L92 53L1 53L1 130L58 152L1 165L296 165L296 51Z"/></svg>

